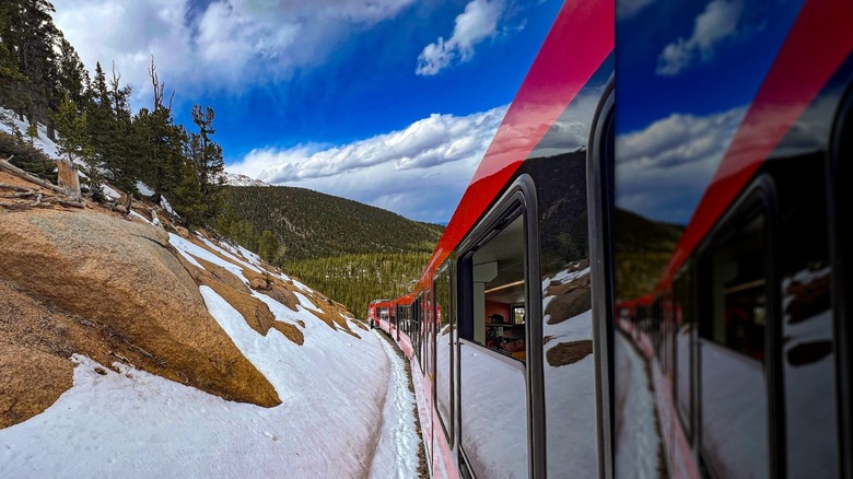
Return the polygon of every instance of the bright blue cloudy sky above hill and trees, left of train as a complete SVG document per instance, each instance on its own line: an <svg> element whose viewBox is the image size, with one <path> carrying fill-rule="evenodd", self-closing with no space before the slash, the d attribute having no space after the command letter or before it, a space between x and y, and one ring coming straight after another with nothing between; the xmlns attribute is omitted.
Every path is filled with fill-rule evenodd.
<svg viewBox="0 0 853 479"><path fill-rule="evenodd" d="M90 71L213 107L226 170L446 222L562 2L54 0ZM109 73L107 73L109 74Z"/></svg>

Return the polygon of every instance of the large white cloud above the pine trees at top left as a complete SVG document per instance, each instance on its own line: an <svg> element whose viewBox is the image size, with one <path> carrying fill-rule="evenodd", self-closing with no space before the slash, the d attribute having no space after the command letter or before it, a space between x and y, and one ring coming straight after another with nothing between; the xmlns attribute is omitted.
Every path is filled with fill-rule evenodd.
<svg viewBox="0 0 853 479"><path fill-rule="evenodd" d="M115 61L122 81L150 92L151 56L171 85L238 93L319 61L358 28L413 0L55 0L54 21L90 70Z"/></svg>

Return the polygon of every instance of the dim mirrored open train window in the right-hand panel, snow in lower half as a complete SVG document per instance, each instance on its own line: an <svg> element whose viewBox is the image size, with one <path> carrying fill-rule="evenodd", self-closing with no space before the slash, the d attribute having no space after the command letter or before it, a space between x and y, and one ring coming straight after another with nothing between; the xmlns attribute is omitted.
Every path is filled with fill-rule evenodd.
<svg viewBox="0 0 853 479"><path fill-rule="evenodd" d="M701 451L716 477L769 476L766 223L760 213L722 231L703 255Z"/></svg>

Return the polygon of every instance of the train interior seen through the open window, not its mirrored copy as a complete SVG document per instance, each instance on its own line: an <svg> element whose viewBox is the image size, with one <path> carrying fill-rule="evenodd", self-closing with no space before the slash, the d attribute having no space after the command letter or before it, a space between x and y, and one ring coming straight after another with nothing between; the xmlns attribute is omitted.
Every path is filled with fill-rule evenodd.
<svg viewBox="0 0 853 479"><path fill-rule="evenodd" d="M524 261L521 215L472 256L474 340L519 360L526 349Z"/></svg>

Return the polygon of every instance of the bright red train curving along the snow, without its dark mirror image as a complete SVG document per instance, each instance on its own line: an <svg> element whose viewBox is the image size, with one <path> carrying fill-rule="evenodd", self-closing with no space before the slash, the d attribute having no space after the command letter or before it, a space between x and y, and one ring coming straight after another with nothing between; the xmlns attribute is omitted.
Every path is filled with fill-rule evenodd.
<svg viewBox="0 0 853 479"><path fill-rule="evenodd" d="M433 477L595 477L609 464L586 159L608 151L614 8L564 3L422 277L396 300Z"/></svg>

